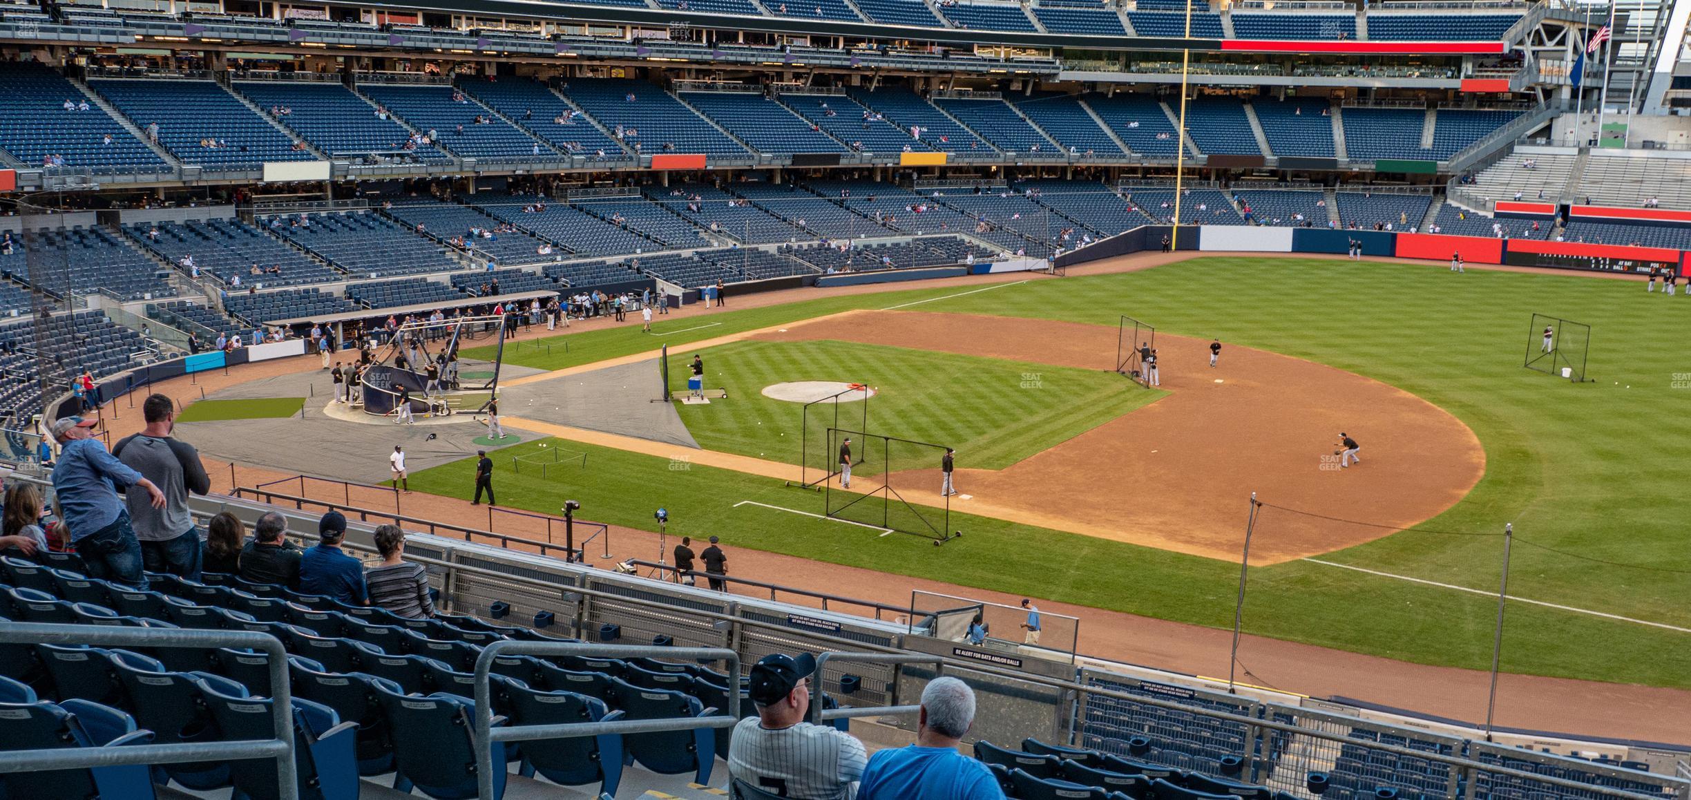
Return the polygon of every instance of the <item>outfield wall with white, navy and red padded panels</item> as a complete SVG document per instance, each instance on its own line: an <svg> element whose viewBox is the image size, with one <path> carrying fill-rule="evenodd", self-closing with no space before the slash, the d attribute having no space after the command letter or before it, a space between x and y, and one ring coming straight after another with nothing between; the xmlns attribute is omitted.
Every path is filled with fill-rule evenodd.
<svg viewBox="0 0 1691 800"><path fill-rule="evenodd" d="M1170 237L1168 225L1145 225L1065 252L1059 267L1160 250ZM1466 264L1515 264L1525 267L1581 269L1590 272L1691 276L1691 252L1661 247L1546 242L1542 238L1453 237L1444 233L1397 233L1380 230L1280 228L1258 225L1182 225L1179 250L1212 252L1349 252L1351 242L1363 255L1451 260Z"/></svg>

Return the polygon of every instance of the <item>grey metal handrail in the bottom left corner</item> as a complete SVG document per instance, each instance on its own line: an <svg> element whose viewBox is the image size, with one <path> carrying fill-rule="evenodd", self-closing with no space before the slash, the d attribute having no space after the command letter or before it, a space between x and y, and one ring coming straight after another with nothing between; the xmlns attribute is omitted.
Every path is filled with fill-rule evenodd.
<svg viewBox="0 0 1691 800"><path fill-rule="evenodd" d="M276 739L193 744L137 744L132 748L22 749L0 753L0 775L93 766L184 764L189 761L244 761L274 758L279 800L299 800L294 766L294 704L287 688L287 651L267 633L200 631L191 627L107 627L41 622L0 622L7 644L123 644L134 648L252 648L269 656ZM489 795L490 797L490 795Z"/></svg>

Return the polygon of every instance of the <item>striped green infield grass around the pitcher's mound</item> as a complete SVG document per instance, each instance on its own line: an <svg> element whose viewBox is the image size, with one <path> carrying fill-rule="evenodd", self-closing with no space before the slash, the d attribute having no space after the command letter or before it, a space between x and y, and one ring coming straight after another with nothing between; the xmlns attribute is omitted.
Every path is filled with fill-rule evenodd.
<svg viewBox="0 0 1691 800"><path fill-rule="evenodd" d="M810 440L808 467L827 468L837 443L832 404L812 406L764 397L786 381L867 382L867 433L957 448L960 465L1001 470L1055 447L1167 392L1143 391L1114 372L1064 369L972 355L935 353L851 342L736 342L710 348L705 386L729 399L709 406L676 404L681 421L705 450L798 463L800 435ZM687 391L692 353L670 357L671 391ZM1038 391L1032 391L1038 387ZM839 428L864 430L862 403L839 408ZM871 452L874 450L874 452ZM883 467L879 450L859 436L861 475ZM893 470L935 468L939 452L898 447Z"/></svg>

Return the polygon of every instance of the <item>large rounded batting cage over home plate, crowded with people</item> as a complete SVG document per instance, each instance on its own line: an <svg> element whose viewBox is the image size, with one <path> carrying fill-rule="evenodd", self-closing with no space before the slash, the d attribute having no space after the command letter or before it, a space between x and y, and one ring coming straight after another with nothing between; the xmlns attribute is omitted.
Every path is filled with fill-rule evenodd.
<svg viewBox="0 0 1691 800"><path fill-rule="evenodd" d="M364 413L392 416L399 411L399 389L411 391L414 416L450 416L463 411L482 411L499 391L499 365L504 360L504 330L507 316L455 316L440 321L411 321L401 325L386 343L377 345L375 362L364 370ZM470 372L468 364L450 367L458 348L482 340L492 340L495 348L490 364L477 364L482 370ZM436 365L436 381L428 379L428 364ZM457 374L455 374L457 370Z"/></svg>

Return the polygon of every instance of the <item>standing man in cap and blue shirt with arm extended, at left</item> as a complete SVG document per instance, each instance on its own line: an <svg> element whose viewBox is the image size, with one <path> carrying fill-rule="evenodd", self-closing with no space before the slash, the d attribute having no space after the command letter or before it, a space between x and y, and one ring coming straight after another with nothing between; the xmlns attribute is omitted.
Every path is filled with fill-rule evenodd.
<svg viewBox="0 0 1691 800"><path fill-rule="evenodd" d="M59 496L71 546L88 565L88 577L132 587L145 587L140 575L140 540L129 521L129 507L118 489L142 487L152 507L164 507L164 492L108 453L93 438L96 419L66 416L52 421L49 431L59 441L59 462L52 468L52 490Z"/></svg>

